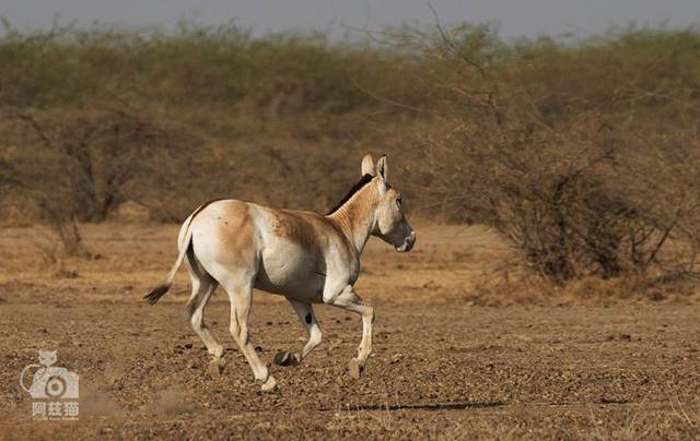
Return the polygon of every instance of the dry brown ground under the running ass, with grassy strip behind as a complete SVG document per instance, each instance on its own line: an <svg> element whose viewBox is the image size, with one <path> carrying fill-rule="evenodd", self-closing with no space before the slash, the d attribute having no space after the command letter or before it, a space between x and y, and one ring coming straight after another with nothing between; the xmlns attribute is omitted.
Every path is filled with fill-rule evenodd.
<svg viewBox="0 0 700 441"><path fill-rule="evenodd" d="M697 301L481 301L505 247L479 227L417 230L412 253L376 241L363 261L358 290L377 311L364 377L347 372L360 319L322 306L322 346L272 367L280 390L261 394L221 291L207 310L228 347L221 378L182 318L184 271L160 303L140 300L175 259L176 226L84 226L93 259L57 262L38 230L5 228L0 438L700 438ZM252 334L267 361L304 339L262 293ZM19 378L40 348L80 374L79 420L32 420Z"/></svg>

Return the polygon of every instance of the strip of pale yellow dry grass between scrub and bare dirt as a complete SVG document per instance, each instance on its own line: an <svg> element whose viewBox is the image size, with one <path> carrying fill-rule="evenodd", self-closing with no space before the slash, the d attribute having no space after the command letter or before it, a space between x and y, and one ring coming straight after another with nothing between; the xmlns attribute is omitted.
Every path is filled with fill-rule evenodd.
<svg viewBox="0 0 700 441"><path fill-rule="evenodd" d="M479 306L697 301L700 291L684 281L649 285L646 279L595 277L555 286L518 265L517 253L483 226L412 221L418 246L397 254L372 239L362 260L358 289L381 301L464 302ZM0 239L0 285L50 288L69 298L139 300L175 259L177 225L85 224L91 258L58 250L45 229L4 228ZM189 295L180 271L170 300Z"/></svg>

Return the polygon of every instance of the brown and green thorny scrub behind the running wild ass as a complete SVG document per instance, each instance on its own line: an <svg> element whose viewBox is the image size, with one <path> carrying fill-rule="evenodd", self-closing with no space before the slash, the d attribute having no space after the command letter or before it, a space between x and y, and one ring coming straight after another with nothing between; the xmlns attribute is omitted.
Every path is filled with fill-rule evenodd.
<svg viewBox="0 0 700 441"><path fill-rule="evenodd" d="M171 223L218 196L325 211L373 152L394 157L413 216L512 247L497 277L511 282L485 289L517 274L695 293L697 28L506 41L436 24L330 41L3 25L2 221L48 223L62 253L90 255L82 223Z"/></svg>

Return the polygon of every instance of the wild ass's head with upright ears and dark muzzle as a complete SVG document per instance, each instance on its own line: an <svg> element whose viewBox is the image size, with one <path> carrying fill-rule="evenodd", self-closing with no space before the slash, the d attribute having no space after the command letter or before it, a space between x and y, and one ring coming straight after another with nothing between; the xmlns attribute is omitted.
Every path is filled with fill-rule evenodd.
<svg viewBox="0 0 700 441"><path fill-rule="evenodd" d="M377 186L376 222L372 235L393 245L398 252L410 251L416 243L416 231L404 214L401 193L387 180L386 155L376 165L372 155L366 155L362 159L362 175L375 177L372 183Z"/></svg>

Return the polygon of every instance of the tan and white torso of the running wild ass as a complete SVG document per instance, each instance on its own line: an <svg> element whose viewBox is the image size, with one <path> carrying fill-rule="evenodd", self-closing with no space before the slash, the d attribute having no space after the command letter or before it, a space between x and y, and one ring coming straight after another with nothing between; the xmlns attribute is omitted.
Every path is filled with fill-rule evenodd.
<svg viewBox="0 0 700 441"><path fill-rule="evenodd" d="M188 222L180 229L180 250ZM352 260L341 231L312 212L220 200L201 210L189 228L194 254L215 279L253 273L255 288L304 301L322 301L329 270L343 266L334 261Z"/></svg>

